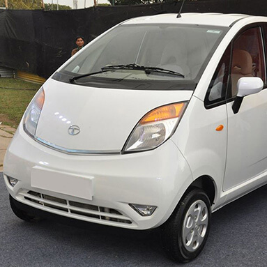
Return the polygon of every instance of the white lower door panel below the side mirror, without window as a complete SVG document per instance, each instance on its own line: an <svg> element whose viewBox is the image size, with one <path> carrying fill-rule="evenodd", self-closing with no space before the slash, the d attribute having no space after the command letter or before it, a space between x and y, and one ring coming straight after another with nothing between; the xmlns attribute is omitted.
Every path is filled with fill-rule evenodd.
<svg viewBox="0 0 267 267"><path fill-rule="evenodd" d="M228 150L223 190L240 185L267 169L267 90L245 96L237 114L227 104Z"/></svg>

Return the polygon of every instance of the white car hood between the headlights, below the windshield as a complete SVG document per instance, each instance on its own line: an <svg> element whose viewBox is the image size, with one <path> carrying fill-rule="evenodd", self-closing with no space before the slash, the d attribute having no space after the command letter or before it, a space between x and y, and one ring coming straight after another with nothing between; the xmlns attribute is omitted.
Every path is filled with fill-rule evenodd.
<svg viewBox="0 0 267 267"><path fill-rule="evenodd" d="M190 100L193 91L99 89L49 79L36 137L76 153L119 153L138 121L151 109ZM77 125L79 134L70 129Z"/></svg>

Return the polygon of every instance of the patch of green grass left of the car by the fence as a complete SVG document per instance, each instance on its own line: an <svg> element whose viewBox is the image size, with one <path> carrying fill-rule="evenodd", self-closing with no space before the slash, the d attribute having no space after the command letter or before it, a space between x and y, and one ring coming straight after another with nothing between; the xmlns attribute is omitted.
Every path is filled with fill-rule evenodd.
<svg viewBox="0 0 267 267"><path fill-rule="evenodd" d="M0 122L17 128L24 111L41 84L0 78Z"/></svg>

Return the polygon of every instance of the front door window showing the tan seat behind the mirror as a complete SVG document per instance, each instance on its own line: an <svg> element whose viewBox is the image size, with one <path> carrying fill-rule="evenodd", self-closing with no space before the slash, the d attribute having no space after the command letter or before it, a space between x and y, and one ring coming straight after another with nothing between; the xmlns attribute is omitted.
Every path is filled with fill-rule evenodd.
<svg viewBox="0 0 267 267"><path fill-rule="evenodd" d="M265 82L265 62L261 27L241 33L233 43L231 60L231 96L237 94L241 77L260 77Z"/></svg>

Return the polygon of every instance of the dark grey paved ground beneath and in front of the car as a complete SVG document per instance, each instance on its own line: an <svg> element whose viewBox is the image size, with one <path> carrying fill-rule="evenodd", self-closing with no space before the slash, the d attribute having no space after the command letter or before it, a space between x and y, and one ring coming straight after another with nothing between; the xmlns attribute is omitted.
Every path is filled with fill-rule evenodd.
<svg viewBox="0 0 267 267"><path fill-rule="evenodd" d="M208 243L186 267L266 267L267 185L213 213ZM181 266L165 257L158 230L98 224L26 223L13 215L0 172L1 267Z"/></svg>

